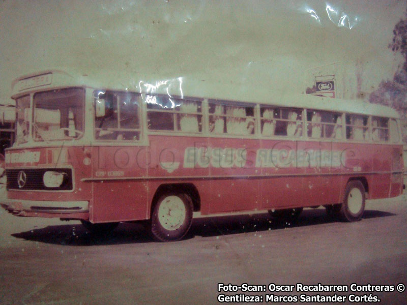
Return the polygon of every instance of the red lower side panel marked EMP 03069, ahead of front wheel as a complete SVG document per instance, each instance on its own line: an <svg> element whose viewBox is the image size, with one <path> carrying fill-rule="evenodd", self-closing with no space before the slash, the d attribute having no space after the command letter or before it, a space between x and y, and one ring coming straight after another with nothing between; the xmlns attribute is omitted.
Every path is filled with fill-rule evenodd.
<svg viewBox="0 0 407 305"><path fill-rule="evenodd" d="M146 219L148 150L143 146L96 146L93 162L92 222Z"/></svg>

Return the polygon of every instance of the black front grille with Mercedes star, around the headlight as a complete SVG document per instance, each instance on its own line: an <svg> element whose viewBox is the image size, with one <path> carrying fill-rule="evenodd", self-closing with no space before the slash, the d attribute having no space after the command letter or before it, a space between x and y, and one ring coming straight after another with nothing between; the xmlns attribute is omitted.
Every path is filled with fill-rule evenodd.
<svg viewBox="0 0 407 305"><path fill-rule="evenodd" d="M63 174L59 187L46 187L43 181L45 172L52 171ZM30 168L6 169L8 190L30 191L70 191L73 188L72 169L70 168Z"/></svg>

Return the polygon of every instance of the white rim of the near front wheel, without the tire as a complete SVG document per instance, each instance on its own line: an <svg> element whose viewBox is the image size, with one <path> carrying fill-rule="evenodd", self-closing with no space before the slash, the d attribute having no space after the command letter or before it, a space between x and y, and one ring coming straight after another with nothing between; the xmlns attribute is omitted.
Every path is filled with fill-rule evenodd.
<svg viewBox="0 0 407 305"><path fill-rule="evenodd" d="M165 197L158 208L158 221L168 231L179 229L186 217L185 204L178 196Z"/></svg>

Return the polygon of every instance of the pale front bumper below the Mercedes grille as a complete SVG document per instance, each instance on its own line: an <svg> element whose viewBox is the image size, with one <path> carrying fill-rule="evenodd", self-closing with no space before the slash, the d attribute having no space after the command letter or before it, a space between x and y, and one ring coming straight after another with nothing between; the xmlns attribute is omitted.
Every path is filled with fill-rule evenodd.
<svg viewBox="0 0 407 305"><path fill-rule="evenodd" d="M0 205L13 214L20 212L72 214L89 212L89 201L37 201L2 199Z"/></svg>

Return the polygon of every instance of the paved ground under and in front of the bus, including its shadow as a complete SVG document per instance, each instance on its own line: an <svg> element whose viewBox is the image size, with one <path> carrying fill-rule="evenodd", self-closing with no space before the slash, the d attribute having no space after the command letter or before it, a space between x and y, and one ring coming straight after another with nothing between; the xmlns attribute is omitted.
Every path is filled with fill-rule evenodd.
<svg viewBox="0 0 407 305"><path fill-rule="evenodd" d="M93 238L77 222L2 210L0 303L215 304L217 283L407 284L405 199L366 209L357 223L306 209L289 228L267 214L197 219L187 239L171 243L151 241L136 224ZM405 291L373 295L407 303Z"/></svg>

